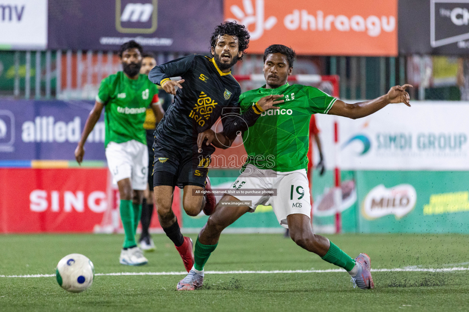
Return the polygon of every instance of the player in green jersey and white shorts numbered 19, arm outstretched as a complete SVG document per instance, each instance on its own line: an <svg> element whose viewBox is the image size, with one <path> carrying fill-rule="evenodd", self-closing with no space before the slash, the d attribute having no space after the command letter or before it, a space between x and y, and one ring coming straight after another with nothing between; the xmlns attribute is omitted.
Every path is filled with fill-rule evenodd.
<svg viewBox="0 0 469 312"><path fill-rule="evenodd" d="M280 109L262 112L257 122L242 133L248 160L243 172L232 185L237 189L276 190L276 196L225 194L199 233L195 245L195 264L189 275L182 279L178 290L194 290L202 286L204 265L215 247L220 233L246 212L253 212L256 206L272 205L280 225L290 231L297 245L318 254L323 260L344 268L352 277L354 287L373 288L370 257L359 254L355 260L344 253L329 239L313 234L310 223L310 191L306 167L308 165L309 123L311 114L330 114L352 119L368 116L389 103L403 102L409 105L405 88L410 85L392 87L377 99L356 104L347 104L317 88L289 85L295 52L284 45L269 46L264 53L265 86L244 92L240 96L242 110L254 105L261 97L282 94L284 103ZM207 140L204 143L204 140ZM206 130L199 134L198 145L231 145L232 141L222 132ZM230 192L233 194L232 192ZM229 203L246 202L244 205Z"/></svg>

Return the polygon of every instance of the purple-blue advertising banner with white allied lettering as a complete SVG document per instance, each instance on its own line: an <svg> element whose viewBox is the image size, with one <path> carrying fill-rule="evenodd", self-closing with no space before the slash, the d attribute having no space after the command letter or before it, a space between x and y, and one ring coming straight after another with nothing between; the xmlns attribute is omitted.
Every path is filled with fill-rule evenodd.
<svg viewBox="0 0 469 312"><path fill-rule="evenodd" d="M75 160L93 107L86 101L0 100L0 160ZM85 160L106 160L104 113L85 144Z"/></svg>

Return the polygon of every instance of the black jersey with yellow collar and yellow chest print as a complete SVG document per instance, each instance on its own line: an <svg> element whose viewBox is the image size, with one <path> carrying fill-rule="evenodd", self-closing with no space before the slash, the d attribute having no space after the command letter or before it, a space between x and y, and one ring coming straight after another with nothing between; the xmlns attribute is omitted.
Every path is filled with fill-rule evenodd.
<svg viewBox="0 0 469 312"><path fill-rule="evenodd" d="M246 131L260 116L258 106L241 115L241 87L231 75L223 73L213 58L193 54L155 66L148 78L161 85L171 77L182 77L182 89L177 89L174 103L158 124L155 137L158 144L168 144L197 151L197 135L221 117L228 138ZM203 146L212 153L213 146Z"/></svg>

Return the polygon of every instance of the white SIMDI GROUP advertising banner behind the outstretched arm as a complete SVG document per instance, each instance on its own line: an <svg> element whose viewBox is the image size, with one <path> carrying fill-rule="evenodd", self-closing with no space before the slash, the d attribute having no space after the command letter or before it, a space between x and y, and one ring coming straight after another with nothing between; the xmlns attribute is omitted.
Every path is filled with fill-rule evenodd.
<svg viewBox="0 0 469 312"><path fill-rule="evenodd" d="M350 102L350 101L346 101ZM469 102L389 104L339 121L343 170L469 170ZM328 168L334 167L333 121L316 115Z"/></svg>

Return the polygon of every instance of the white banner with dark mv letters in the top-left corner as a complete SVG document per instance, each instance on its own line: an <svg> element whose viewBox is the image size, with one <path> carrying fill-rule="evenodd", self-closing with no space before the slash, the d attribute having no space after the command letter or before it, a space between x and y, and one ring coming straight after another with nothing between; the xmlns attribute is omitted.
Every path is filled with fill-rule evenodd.
<svg viewBox="0 0 469 312"><path fill-rule="evenodd" d="M0 0L0 49L45 49L47 0Z"/></svg>

